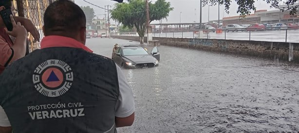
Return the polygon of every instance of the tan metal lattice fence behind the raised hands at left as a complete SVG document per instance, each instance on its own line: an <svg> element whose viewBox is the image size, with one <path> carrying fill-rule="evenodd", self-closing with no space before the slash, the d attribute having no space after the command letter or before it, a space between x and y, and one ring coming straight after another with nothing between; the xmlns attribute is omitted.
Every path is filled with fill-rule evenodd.
<svg viewBox="0 0 299 133"><path fill-rule="evenodd" d="M16 16L30 19L39 31L40 38L43 37L42 26L43 16L46 8L52 0L13 0L14 6L18 9ZM28 45L29 51L40 49L40 40L35 40L29 33Z"/></svg>

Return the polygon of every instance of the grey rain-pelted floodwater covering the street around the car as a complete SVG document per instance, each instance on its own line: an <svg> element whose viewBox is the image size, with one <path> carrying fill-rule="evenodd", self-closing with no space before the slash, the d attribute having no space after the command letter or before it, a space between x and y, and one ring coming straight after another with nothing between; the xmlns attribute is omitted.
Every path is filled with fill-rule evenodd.
<svg viewBox="0 0 299 133"><path fill-rule="evenodd" d="M130 42L87 40L107 57L114 43ZM123 70L136 112L134 124L119 133L299 133L299 66L168 46L159 50L158 67Z"/></svg>

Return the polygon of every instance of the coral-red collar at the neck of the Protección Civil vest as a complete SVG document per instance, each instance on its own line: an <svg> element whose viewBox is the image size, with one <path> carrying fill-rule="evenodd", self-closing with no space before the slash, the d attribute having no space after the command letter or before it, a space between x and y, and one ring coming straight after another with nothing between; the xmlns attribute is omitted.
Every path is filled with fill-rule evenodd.
<svg viewBox="0 0 299 133"><path fill-rule="evenodd" d="M52 47L71 47L71 48L83 49L88 52L93 52L92 50L87 48L84 44L70 37L58 36L58 35L48 35L43 37L40 42L40 49L52 48Z"/></svg>

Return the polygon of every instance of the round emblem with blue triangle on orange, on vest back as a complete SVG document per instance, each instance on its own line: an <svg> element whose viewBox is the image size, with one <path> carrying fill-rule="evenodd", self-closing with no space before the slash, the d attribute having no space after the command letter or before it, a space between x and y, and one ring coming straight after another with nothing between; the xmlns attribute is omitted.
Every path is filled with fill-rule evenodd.
<svg viewBox="0 0 299 133"><path fill-rule="evenodd" d="M74 80L72 68L60 60L47 60L34 70L33 83L37 91L47 97L66 93Z"/></svg>

